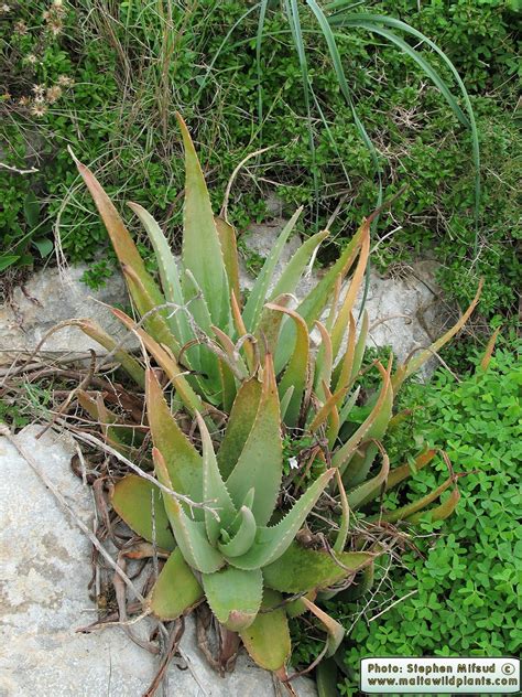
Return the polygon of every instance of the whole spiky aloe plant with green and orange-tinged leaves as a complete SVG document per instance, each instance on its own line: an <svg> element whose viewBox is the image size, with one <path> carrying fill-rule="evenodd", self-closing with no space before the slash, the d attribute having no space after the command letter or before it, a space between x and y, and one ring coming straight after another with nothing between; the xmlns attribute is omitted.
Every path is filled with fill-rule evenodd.
<svg viewBox="0 0 522 697"><path fill-rule="evenodd" d="M188 129L181 117L178 121L186 171L180 260L149 213L130 204L155 250L161 288L96 178L77 162L141 319L112 312L140 339L146 365L93 322L75 323L112 351L145 390L160 487L128 475L116 484L112 504L139 535L171 553L148 599L150 610L173 620L206 600L224 631L239 633L259 665L284 677L291 652L287 616L312 612L326 629L326 655L339 645L342 628L315 600L346 588L359 572L372 576L365 569L371 569L381 550L361 546L350 530L350 512L371 505L383 490L411 474L409 464L390 469L381 444L390 423L400 418L393 415L394 396L404 379L463 326L480 289L452 330L394 373L391 360L388 367L376 362L381 387L367 403L365 421L354 425L350 414L359 398L369 322L365 315L358 329L352 311L368 264L372 216L363 219L337 261L294 307L297 283L328 235L324 230L308 238L273 286L297 212L243 301L235 230L227 219L214 217ZM317 350L312 347L313 330L320 337ZM161 387L157 369L172 386L172 399ZM100 397L79 398L104 423L112 446L132 457L135 443L126 439L129 429L118 423L118 416ZM197 425L200 448L182 428L182 417ZM291 440L306 433L314 441L314 458L322 464L313 476L283 475L282 430ZM420 452L416 470L434 457L431 450ZM449 500L429 508L449 487ZM337 507L337 524L322 526L322 545L305 546L300 530L325 490ZM290 510L284 492L295 496ZM381 511L376 521L443 518L457 501L450 473L424 498L393 513Z"/></svg>

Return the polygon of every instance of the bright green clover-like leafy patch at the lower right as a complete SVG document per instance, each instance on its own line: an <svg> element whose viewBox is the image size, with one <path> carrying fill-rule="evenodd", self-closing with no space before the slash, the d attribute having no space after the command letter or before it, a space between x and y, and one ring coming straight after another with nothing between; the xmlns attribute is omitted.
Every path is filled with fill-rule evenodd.
<svg viewBox="0 0 522 697"><path fill-rule="evenodd" d="M383 564L371 603L334 608L331 602L331 614L342 618L345 626L361 611L367 620L354 625L346 642L342 694L357 694L359 660L365 656L520 652L521 349L513 337L512 347L499 349L486 373L478 367L460 383L441 372L433 385L422 388L426 406L395 432L398 448L411 442L413 429L414 440L445 448L455 470L469 474L459 480L461 502L443 535L438 525L422 524L426 537L413 541L423 556L407 553L406 572L395 568L384 578ZM418 386L410 387L406 403L418 404ZM434 481L425 472L413 478L406 496L423 494ZM395 497L388 496L385 505L396 505Z"/></svg>

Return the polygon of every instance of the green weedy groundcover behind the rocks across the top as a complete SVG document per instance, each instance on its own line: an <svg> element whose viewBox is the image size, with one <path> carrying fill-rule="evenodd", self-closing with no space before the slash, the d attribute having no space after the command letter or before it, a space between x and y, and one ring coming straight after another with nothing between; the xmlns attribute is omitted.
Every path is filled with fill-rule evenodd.
<svg viewBox="0 0 522 697"><path fill-rule="evenodd" d="M287 210L305 205L306 229L312 232L344 201L331 242L322 251L327 261L358 223L357 212L373 207L374 162L339 94L328 45L306 3L300 4L300 15L316 96L309 105L312 118L289 12L279 3L268 6L261 43L254 4L199 0L172 7L172 15L166 8L66 0L2 6L4 163L39 171L2 170L1 268L41 264L59 239L56 254L63 251L73 262L91 261L88 282L99 285L110 275L110 258L101 254L105 229L78 184L66 144L91 164L116 201L140 203L180 238L180 149L166 137L175 128L175 108L194 125L215 206L243 157L262 146L276 147L237 180L229 211L240 229L265 215L263 199L271 187ZM243 18L247 9L251 12ZM411 55L383 44L382 36L365 28L333 25L357 112L374 142L384 197L407 184L394 206L402 229L379 245L374 262L387 268L434 251L443 262L447 292L468 303L474 285L485 276L482 312L490 318L510 312L520 277L513 254L520 238L513 122L516 8L503 0L390 0L349 11L396 17L436 41L470 94L482 151L475 254L474 171L466 129ZM295 24L295 13L292 17ZM342 19L331 10L328 17ZM453 84L437 54L425 45L415 47ZM108 154L115 151L118 158ZM127 222L138 232L131 217ZM385 218L376 234L384 230ZM140 242L148 244L145 237Z"/></svg>

